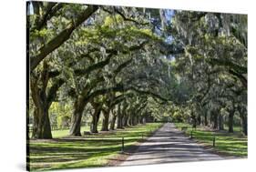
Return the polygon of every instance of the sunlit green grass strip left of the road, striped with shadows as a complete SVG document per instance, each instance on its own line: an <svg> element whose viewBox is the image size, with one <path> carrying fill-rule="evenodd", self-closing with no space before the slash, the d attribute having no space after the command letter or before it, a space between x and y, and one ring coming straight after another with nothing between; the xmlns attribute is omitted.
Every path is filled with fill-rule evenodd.
<svg viewBox="0 0 256 172"><path fill-rule="evenodd" d="M68 130L57 130L53 132L55 139L30 140L30 167L36 171L104 167L109 159L118 156L122 137L125 139L125 149L128 149L142 140L142 134L147 137L159 126L162 124L150 123L87 137L64 137Z"/></svg>

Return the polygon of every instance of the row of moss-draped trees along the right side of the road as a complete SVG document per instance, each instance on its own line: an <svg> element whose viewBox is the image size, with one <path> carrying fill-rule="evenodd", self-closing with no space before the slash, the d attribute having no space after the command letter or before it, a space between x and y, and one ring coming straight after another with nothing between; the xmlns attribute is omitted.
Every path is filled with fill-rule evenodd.
<svg viewBox="0 0 256 172"><path fill-rule="evenodd" d="M169 30L185 50L173 67L189 97L174 111L194 127L226 123L229 132L240 118L247 135L247 15L176 12Z"/></svg>

